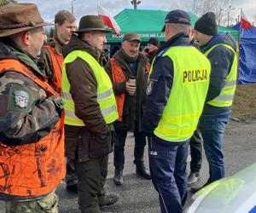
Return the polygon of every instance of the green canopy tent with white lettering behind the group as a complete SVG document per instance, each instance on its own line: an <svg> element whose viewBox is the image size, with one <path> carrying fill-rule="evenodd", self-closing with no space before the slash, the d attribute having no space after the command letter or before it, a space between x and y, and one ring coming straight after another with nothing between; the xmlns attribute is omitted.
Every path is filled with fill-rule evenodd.
<svg viewBox="0 0 256 213"><path fill-rule="evenodd" d="M144 10L144 9L124 9L114 16L114 20L121 29L121 35L108 34L108 43L120 43L127 32L137 32L141 36L142 42L147 43L150 37L158 37L161 42L165 40L165 34L161 32L164 20L168 11L163 10ZM189 12L192 26L198 17ZM230 32L238 41L239 32L233 31L228 27L218 26L218 32Z"/></svg>

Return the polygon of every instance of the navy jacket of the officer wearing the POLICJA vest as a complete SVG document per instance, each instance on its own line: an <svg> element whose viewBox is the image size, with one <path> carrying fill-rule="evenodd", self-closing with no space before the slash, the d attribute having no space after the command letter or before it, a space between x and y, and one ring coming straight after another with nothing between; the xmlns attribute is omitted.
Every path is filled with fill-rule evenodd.
<svg viewBox="0 0 256 213"><path fill-rule="evenodd" d="M153 135L154 129L159 124L172 89L173 62L168 56L162 57L162 55L170 47L190 45L189 36L179 32L166 42L154 59L154 62L158 61L153 64L153 69L158 71L154 72L154 78L157 78L158 81L149 80L147 93L151 95L147 96L145 103L147 107L143 111L143 132L148 136ZM150 102L150 105L147 104L148 102Z"/></svg>

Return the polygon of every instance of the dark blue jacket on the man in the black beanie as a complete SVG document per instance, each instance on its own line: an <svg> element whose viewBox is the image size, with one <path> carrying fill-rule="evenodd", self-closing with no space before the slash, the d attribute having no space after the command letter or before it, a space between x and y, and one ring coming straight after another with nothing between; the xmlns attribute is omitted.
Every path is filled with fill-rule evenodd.
<svg viewBox="0 0 256 213"><path fill-rule="evenodd" d="M212 39L201 46L200 49L202 53L205 53L208 49L211 49L219 43L227 44L236 51L236 42L229 33L221 33L213 36ZM208 60L211 62L212 72L206 103L217 97L224 88L225 79L230 73L234 57L235 53L224 47L224 45L218 45L207 55ZM215 114L225 112L229 109L230 107L213 107L206 104L203 113Z"/></svg>

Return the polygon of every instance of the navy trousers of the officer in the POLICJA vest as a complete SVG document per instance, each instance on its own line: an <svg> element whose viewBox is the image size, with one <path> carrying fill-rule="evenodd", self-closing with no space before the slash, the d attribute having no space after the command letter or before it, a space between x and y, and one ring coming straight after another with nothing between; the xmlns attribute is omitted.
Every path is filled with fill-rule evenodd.
<svg viewBox="0 0 256 213"><path fill-rule="evenodd" d="M187 199L187 157L189 141L166 146L153 135L148 143L150 174L159 193L162 213L182 213Z"/></svg>

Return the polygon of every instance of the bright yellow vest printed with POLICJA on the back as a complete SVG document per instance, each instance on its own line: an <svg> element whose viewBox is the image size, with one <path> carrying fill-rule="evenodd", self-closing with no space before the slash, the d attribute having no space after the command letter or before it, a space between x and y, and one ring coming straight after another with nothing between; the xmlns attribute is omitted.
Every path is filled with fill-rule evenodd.
<svg viewBox="0 0 256 213"><path fill-rule="evenodd" d="M204 107L211 65L194 47L172 47L164 56L172 59L173 82L154 135L165 141L187 141L196 129ZM151 72L158 71L153 69Z"/></svg>

